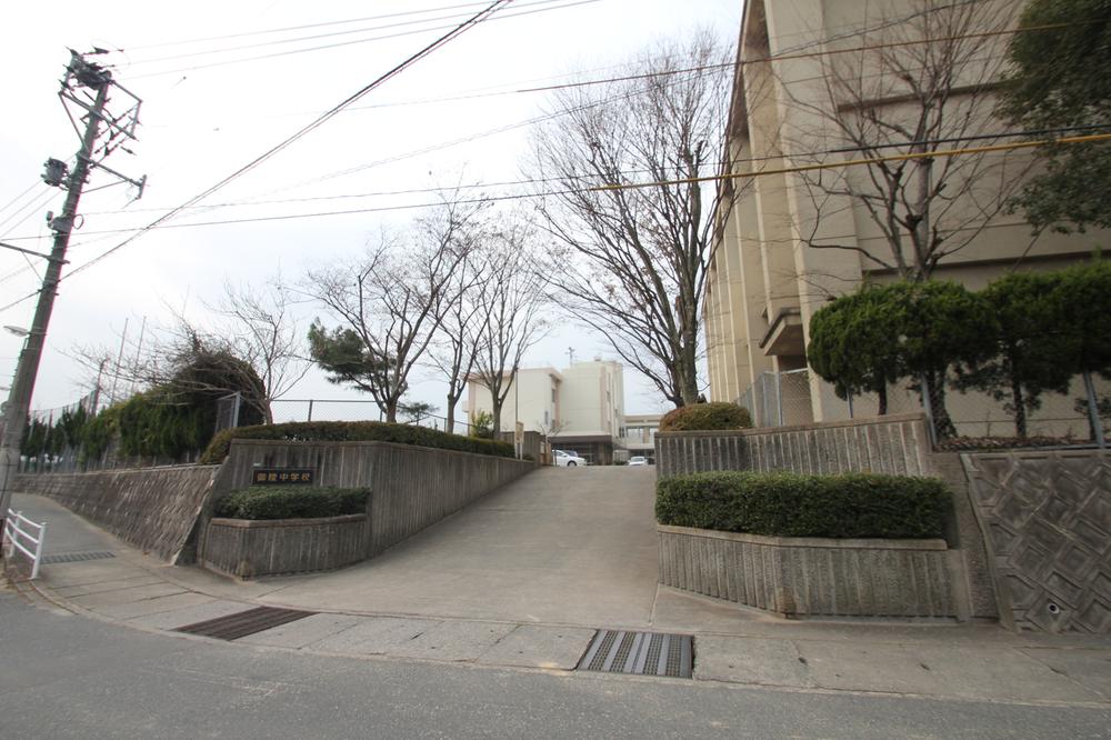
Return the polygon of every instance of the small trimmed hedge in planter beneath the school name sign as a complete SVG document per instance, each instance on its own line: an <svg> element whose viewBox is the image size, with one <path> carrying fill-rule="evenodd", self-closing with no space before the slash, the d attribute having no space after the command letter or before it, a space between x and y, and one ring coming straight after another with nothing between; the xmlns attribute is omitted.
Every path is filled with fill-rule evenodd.
<svg viewBox="0 0 1111 740"><path fill-rule="evenodd" d="M252 486L232 491L216 504L228 519L319 519L366 513L368 488Z"/></svg>

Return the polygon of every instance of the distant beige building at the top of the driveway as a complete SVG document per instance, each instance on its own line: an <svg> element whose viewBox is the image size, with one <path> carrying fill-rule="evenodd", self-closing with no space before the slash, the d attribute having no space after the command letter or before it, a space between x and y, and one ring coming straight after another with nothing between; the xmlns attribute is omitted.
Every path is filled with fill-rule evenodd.
<svg viewBox="0 0 1111 740"><path fill-rule="evenodd" d="M467 413L473 419L493 408L490 391L471 378L467 383ZM524 430L550 432L558 449L577 452L591 462L609 464L622 450L624 374L620 362L594 358L563 370L526 368L518 371L518 387L510 384L501 410L499 432L512 432L517 421Z"/></svg>

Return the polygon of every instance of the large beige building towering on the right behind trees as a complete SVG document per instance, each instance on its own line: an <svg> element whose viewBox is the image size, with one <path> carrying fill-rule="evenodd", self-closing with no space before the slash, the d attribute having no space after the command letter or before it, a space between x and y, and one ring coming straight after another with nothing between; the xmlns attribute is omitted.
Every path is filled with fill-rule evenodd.
<svg viewBox="0 0 1111 740"><path fill-rule="evenodd" d="M964 17L971 26L942 22L939 9L947 7L973 9ZM905 133L912 140L914 133L952 138L939 149L1014 141L973 138L1009 127L992 117L991 93L1005 36L965 42L960 79L944 103L949 117L927 133L915 126L925 118L905 86L922 83L930 59L927 46L915 40L1012 28L1020 8L995 0L748 0L725 152L727 171L740 177L722 181L734 203L724 218L719 213L703 303L712 400L740 401L762 426L875 412L867 398L850 409L807 371L810 317L863 281L899 277L892 233L908 244L903 257L912 259L910 233L902 227L892 231L877 210L875 197L887 194L882 170L845 162L922 149L892 143L877 152L861 148L861 138L852 134L891 142L907 141ZM858 51L864 48L871 50ZM905 80L892 71L897 68ZM935 278L978 289L1007 269L1065 267L1088 258L1099 243L1094 234L1035 239L1021 213L1000 207L1030 170L1025 152L918 161L932 163L925 177L944 189L930 218L935 233L955 247L937 262ZM907 172L918 178L922 168L912 162ZM915 184L907 182L900 194L913 197ZM1072 399L1062 402L1071 408ZM892 411L917 403L905 391L892 393ZM1005 424L1002 410L987 409L982 398L950 402L954 419L954 406L963 404L970 406L965 416L989 428L993 418Z"/></svg>

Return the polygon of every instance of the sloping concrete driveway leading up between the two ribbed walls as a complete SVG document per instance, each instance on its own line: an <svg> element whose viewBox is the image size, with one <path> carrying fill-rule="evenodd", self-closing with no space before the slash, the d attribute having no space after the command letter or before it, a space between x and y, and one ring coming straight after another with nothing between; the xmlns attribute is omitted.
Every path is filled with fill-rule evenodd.
<svg viewBox="0 0 1111 740"><path fill-rule="evenodd" d="M266 579L288 607L647 626L657 594L653 468L544 468L384 554Z"/></svg>

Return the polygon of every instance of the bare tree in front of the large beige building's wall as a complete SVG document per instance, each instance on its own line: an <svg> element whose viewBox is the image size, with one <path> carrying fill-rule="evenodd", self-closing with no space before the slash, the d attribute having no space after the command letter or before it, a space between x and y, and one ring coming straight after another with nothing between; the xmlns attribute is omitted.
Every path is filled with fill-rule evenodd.
<svg viewBox="0 0 1111 740"><path fill-rule="evenodd" d="M800 224L812 249L860 254L865 270L929 279L1007 207L1029 169L1028 154L963 152L994 143L993 112L1018 3L913 0L913 12L854 36L820 56L817 79L780 67L790 163L813 218ZM892 6L894 18L905 12ZM817 153L821 152L821 153ZM937 156L934 156L937 154ZM903 158L900 158L903 157ZM844 161L855 162L842 166ZM823 232L839 211L861 210L882 247Z"/></svg>

